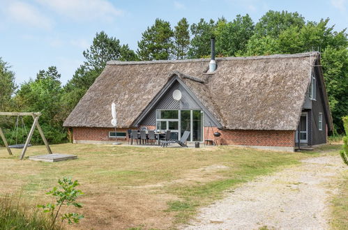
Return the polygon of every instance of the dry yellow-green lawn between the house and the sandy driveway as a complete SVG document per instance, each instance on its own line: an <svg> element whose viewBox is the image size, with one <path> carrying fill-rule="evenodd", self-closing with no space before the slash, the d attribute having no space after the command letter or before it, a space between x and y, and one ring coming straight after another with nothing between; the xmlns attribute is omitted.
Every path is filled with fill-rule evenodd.
<svg viewBox="0 0 348 230"><path fill-rule="evenodd" d="M255 176L299 164L298 160L337 151L285 153L219 146L211 148L139 148L86 144L52 145L54 153L78 155L77 160L33 162L18 160L0 149L0 193L22 193L40 203L58 178L71 176L85 192L85 219L78 228L144 229L175 227L197 208L222 197L223 191ZM27 156L45 153L29 148Z"/></svg>

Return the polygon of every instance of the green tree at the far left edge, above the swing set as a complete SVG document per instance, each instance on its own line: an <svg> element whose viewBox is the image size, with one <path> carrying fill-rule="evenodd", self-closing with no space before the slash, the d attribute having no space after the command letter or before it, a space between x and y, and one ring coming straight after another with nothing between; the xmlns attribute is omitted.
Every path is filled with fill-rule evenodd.
<svg viewBox="0 0 348 230"><path fill-rule="evenodd" d="M15 73L0 57L0 111L10 109L12 96L16 89Z"/></svg>

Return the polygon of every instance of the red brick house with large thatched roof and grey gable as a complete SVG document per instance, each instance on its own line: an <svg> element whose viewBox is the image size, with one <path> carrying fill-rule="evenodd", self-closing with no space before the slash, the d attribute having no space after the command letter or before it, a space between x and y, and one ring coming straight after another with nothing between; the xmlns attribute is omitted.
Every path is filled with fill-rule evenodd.
<svg viewBox="0 0 348 230"><path fill-rule="evenodd" d="M320 54L308 52L109 61L64 126L74 143L127 141L127 130L146 126L172 130L174 138L188 130L188 141L220 132L218 144L294 151L298 143L326 143L333 123Z"/></svg>

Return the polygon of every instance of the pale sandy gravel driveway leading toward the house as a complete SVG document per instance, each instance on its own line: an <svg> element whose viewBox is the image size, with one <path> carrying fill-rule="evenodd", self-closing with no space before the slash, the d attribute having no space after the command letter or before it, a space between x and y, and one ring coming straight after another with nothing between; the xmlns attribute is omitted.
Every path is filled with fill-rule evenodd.
<svg viewBox="0 0 348 230"><path fill-rule="evenodd" d="M344 170L339 156L303 160L227 191L181 229L329 229L330 199Z"/></svg>

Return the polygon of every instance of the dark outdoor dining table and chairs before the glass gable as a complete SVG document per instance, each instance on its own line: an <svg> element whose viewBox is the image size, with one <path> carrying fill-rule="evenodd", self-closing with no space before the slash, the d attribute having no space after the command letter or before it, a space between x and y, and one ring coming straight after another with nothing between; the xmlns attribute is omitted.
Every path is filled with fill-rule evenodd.
<svg viewBox="0 0 348 230"><path fill-rule="evenodd" d="M160 131L160 130L128 130L128 144L144 144L144 145L158 145L162 147L167 147L169 144L179 144L181 147L188 147L186 141L190 136L189 131L183 132L181 139L172 138L174 132L170 130Z"/></svg>

